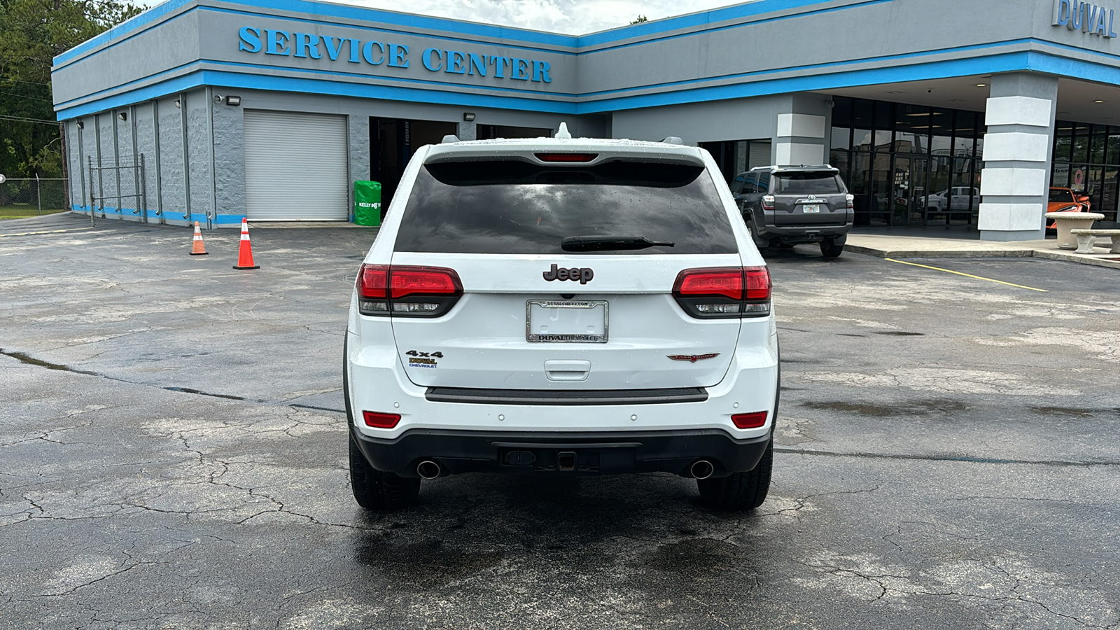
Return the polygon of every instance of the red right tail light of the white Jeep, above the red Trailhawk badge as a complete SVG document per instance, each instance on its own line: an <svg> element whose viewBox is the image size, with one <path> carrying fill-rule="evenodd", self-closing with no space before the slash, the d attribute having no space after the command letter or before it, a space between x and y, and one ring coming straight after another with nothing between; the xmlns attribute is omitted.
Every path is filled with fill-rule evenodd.
<svg viewBox="0 0 1120 630"><path fill-rule="evenodd" d="M685 269L676 275L673 297L685 313L702 319L765 317L771 312L769 270L765 267Z"/></svg>

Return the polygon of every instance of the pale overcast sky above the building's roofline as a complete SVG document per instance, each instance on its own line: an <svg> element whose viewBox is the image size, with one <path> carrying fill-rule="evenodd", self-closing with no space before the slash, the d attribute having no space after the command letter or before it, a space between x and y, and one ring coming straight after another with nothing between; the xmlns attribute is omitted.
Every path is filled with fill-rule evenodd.
<svg viewBox="0 0 1120 630"><path fill-rule="evenodd" d="M651 20L737 4L743 0L335 0L458 20L586 35ZM148 0L150 4L159 0Z"/></svg>

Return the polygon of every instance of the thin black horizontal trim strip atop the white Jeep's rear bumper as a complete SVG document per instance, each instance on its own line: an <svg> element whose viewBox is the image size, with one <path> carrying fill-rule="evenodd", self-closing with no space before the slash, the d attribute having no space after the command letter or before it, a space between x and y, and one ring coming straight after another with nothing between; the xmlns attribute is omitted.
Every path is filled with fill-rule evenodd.
<svg viewBox="0 0 1120 630"><path fill-rule="evenodd" d="M703 402L708 392L699 387L673 389L472 389L429 387L424 398L432 402L484 405L659 405Z"/></svg>

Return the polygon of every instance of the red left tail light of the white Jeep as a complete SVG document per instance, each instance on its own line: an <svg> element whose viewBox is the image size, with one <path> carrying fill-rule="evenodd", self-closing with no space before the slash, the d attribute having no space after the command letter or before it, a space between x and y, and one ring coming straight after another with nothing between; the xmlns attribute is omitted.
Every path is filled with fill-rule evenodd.
<svg viewBox="0 0 1120 630"><path fill-rule="evenodd" d="M463 295L454 269L405 265L362 265L357 272L362 315L439 317Z"/></svg>

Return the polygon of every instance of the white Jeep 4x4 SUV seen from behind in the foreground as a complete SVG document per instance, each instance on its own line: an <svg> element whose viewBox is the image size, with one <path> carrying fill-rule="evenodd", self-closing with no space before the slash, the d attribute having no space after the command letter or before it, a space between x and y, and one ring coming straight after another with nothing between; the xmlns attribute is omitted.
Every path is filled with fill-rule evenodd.
<svg viewBox="0 0 1120 630"><path fill-rule="evenodd" d="M765 500L769 274L711 156L669 140L416 152L351 302L358 504L467 472L668 472L717 509Z"/></svg>

